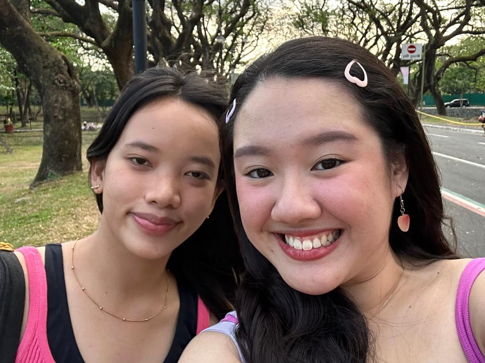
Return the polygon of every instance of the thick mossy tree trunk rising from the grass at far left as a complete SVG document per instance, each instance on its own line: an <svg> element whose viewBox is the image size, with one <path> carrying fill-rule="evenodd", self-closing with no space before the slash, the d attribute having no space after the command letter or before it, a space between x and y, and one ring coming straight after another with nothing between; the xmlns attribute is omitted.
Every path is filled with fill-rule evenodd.
<svg viewBox="0 0 485 363"><path fill-rule="evenodd" d="M66 56L34 31L29 9L28 0L0 0L0 42L42 98L44 141L35 186L81 170L81 119L77 75Z"/></svg>

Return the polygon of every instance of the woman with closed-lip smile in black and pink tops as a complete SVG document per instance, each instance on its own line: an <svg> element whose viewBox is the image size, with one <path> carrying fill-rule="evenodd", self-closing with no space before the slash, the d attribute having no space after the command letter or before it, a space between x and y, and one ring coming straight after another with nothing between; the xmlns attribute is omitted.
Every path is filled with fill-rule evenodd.
<svg viewBox="0 0 485 363"><path fill-rule="evenodd" d="M87 150L98 229L18 249L25 279L0 266L14 332L0 329L14 348L0 361L174 363L231 310L242 260L222 193L226 103L223 85L176 69L125 86Z"/></svg>

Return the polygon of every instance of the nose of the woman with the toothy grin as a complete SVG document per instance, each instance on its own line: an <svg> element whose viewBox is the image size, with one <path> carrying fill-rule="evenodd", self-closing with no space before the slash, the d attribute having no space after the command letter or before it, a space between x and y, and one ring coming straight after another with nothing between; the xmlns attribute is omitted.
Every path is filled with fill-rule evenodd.
<svg viewBox="0 0 485 363"><path fill-rule="evenodd" d="M316 219L322 214L318 201L312 197L311 186L298 176L283 181L277 200L271 210L275 222L298 225L307 219Z"/></svg>

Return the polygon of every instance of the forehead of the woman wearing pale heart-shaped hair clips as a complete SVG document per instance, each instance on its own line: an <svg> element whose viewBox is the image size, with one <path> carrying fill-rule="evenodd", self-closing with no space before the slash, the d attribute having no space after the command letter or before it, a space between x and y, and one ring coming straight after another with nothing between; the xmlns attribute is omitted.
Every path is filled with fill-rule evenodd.
<svg viewBox="0 0 485 363"><path fill-rule="evenodd" d="M359 103L334 82L273 78L256 86L241 106L234 147L248 141L292 142L325 131L372 132L362 118Z"/></svg>

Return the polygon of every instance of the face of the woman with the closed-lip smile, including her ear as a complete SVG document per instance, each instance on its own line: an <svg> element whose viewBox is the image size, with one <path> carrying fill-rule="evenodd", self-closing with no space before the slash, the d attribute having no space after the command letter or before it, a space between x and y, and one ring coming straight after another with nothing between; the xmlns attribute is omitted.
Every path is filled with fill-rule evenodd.
<svg viewBox="0 0 485 363"><path fill-rule="evenodd" d="M167 97L142 107L91 181L100 229L143 258L167 257L199 228L217 196L219 133L205 109Z"/></svg>

